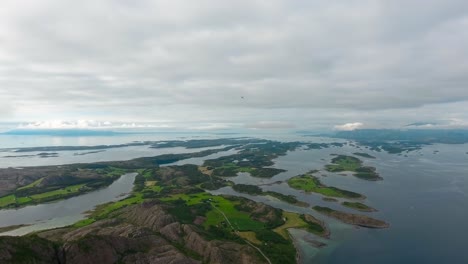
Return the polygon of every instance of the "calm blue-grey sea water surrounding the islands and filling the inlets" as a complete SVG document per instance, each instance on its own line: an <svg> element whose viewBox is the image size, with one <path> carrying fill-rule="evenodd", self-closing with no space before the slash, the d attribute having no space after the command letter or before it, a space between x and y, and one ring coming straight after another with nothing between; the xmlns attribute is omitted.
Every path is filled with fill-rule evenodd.
<svg viewBox="0 0 468 264"><path fill-rule="evenodd" d="M190 138L187 135L183 135L183 137ZM335 141L320 138L288 138L284 135L273 135L268 138L310 140L314 142ZM167 139L171 138L161 138L160 140ZM173 137L172 139L176 138ZM98 137L82 139L80 142L77 142L76 138L65 138L57 141L59 142L57 144L49 144L51 139L48 140L41 145L121 144L134 140L158 140L158 138L125 137L116 139L112 137L112 139L103 139L102 137ZM83 140L86 143L83 143ZM0 137L0 143L2 142L4 141ZM24 146L33 145L31 142L24 143ZM148 150L147 147L132 148L134 147L113 149L112 151L106 150L105 152L97 153L93 159L98 157L109 160L123 159L126 156L152 155L153 152L151 151L157 151ZM436 150L439 152L434 154ZM184 149L167 149L167 151L185 152ZM199 149L196 151L199 151ZM468 251L464 249L465 236L468 234L468 225L465 224L466 219L468 219L468 155L466 154L468 152L468 145L426 146L423 150L409 153L407 157L372 152L352 146L333 147L323 150L298 150L289 152L288 155L275 160L273 167L286 169L287 172L281 173L272 179L253 178L248 174L241 173L238 177L231 178L230 180L236 183L247 184L268 184L278 180L284 181L312 169L322 170L324 165L331 160L332 156L330 154L350 154L357 151L367 152L377 157L377 159L361 159L365 161L366 165L376 167L384 178L383 181L369 182L350 175L342 176L325 171L321 171L318 175L322 175L320 176L321 181L327 185L366 195L367 200L365 200L365 203L379 210L378 212L368 213L368 215L386 220L391 225L389 229L355 228L317 214L310 208L296 207L269 197L237 194L229 187L220 189L214 193L236 194L288 211L309 213L325 220L332 232L330 240L317 238L301 230L292 231L293 236L297 239L297 245L300 246L304 263L468 263ZM232 154L231 151L214 154L209 158L229 154ZM62 152L60 152L59 160L62 159L60 161L62 163L75 162L76 157L89 158L89 156L86 156L75 156L68 160L64 158L66 155L62 155ZM176 164L201 164L204 159L206 157L180 161ZM6 166L2 162L4 161L0 159L0 167ZM13 163L15 162L21 164L19 160ZM128 187L131 188L131 183ZM351 209L340 206L339 203L324 202L321 196L304 194L293 190L285 183L264 185L262 188L264 190L296 195L298 199L311 205L325 205L338 210L353 212ZM119 192L116 192L116 195L118 195L117 193ZM60 221L72 223L75 219L68 220L68 218L76 215L82 217L81 212L91 209L98 203L102 203L96 202L92 206L90 204L91 207L89 209L84 209L80 205L77 205L79 202L73 200L77 198L80 197L60 202L69 202L70 204L67 207L70 207L73 213L71 211L64 211L58 218L54 218L48 223L55 223L55 219L62 219ZM44 206L52 206L52 204ZM73 209L74 206L77 209ZM25 209L27 208L23 208L23 210ZM28 210L31 210L27 215L29 215L29 220L32 220L32 222L36 219L47 220L50 218L50 216L48 218L40 217L41 212L45 210ZM61 211L60 209L50 210ZM22 215L15 216L5 212L7 211L0 211L0 226L8 225L2 223L20 224L18 219L22 219ZM319 240L327 243L327 246L316 249L307 242L308 240Z"/></svg>

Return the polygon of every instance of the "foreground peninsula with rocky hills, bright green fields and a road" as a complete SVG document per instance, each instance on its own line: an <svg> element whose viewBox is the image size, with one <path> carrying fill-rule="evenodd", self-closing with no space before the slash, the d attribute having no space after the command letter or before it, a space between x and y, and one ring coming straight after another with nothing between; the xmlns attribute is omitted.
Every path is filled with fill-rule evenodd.
<svg viewBox="0 0 468 264"><path fill-rule="evenodd" d="M329 234L310 215L205 192L204 183L226 182L196 165L155 164L138 173L132 195L73 226L0 238L0 262L287 264L296 263L288 228Z"/></svg>

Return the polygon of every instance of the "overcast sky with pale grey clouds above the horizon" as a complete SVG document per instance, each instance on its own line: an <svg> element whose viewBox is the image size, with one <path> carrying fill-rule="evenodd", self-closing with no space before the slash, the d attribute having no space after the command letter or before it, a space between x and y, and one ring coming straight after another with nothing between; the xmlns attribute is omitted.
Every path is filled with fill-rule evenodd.
<svg viewBox="0 0 468 264"><path fill-rule="evenodd" d="M2 0L0 122L468 127L466 0Z"/></svg>

